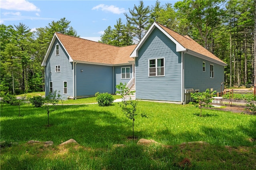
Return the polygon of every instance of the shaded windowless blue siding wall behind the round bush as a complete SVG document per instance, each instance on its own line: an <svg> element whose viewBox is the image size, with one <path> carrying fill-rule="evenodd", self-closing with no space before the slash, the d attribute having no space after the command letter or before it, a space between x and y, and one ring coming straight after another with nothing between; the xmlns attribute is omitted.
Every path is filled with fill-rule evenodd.
<svg viewBox="0 0 256 170"><path fill-rule="evenodd" d="M83 70L82 72L80 70ZM76 64L76 95L77 97L100 93L114 93L113 67L93 64Z"/></svg>

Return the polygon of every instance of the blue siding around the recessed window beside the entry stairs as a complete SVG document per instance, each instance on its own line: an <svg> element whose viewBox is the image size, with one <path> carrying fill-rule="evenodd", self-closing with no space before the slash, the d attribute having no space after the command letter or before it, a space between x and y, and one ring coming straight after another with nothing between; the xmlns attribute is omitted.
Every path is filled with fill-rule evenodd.
<svg viewBox="0 0 256 170"><path fill-rule="evenodd" d="M130 79L132 78L132 65L122 65L114 67L114 93L116 93L116 85L122 83L128 83L130 79L121 79L121 68L130 67Z"/></svg>

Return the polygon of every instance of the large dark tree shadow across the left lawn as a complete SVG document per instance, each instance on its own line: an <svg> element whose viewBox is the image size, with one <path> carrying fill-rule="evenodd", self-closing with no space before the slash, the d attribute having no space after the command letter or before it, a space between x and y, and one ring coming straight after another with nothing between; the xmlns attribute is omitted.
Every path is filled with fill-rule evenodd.
<svg viewBox="0 0 256 170"><path fill-rule="evenodd" d="M132 134L124 119L112 113L114 107L58 106L50 113L50 127L46 126L47 112L41 108L23 107L23 117L14 115L14 111L1 113L1 117L5 117L1 119L1 141L52 140L57 145L73 138L85 146L107 147L126 139L126 134Z"/></svg>

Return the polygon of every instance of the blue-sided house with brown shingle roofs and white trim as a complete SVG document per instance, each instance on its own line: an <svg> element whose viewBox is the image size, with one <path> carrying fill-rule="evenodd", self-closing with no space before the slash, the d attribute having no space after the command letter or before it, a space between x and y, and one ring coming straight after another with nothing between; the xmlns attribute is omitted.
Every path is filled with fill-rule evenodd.
<svg viewBox="0 0 256 170"><path fill-rule="evenodd" d="M136 90L136 99L183 104L193 91L220 92L226 65L192 38L156 22L138 45L127 47L55 33L42 63L46 95L114 94L122 82Z"/></svg>

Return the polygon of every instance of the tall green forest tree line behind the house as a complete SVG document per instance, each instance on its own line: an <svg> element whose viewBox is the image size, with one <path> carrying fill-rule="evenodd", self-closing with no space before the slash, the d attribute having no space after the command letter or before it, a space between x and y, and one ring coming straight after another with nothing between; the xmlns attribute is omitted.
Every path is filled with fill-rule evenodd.
<svg viewBox="0 0 256 170"><path fill-rule="evenodd" d="M256 0L156 1L154 6L140 1L124 15L126 21L118 18L99 42L116 46L138 43L156 21L190 36L226 62L226 86L256 82ZM1 94L44 91L41 64L54 32L80 37L70 23L61 18L34 32L22 23L0 25Z"/></svg>

